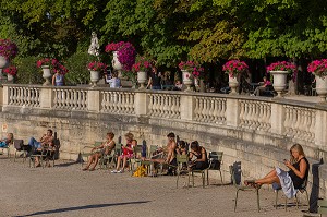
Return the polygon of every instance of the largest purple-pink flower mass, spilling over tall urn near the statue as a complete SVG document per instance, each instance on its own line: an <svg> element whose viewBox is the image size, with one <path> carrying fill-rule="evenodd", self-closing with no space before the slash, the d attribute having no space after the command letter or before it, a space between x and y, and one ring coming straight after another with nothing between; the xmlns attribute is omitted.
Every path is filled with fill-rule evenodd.
<svg viewBox="0 0 327 217"><path fill-rule="evenodd" d="M106 46L106 52L117 51L118 61L122 64L124 71L131 71L135 63L136 50L131 43L120 41L110 43Z"/></svg>

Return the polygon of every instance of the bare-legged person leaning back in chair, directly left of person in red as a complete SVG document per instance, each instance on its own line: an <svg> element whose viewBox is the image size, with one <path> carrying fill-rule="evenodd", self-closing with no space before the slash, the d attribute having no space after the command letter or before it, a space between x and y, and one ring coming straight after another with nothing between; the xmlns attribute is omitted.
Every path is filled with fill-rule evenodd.
<svg viewBox="0 0 327 217"><path fill-rule="evenodd" d="M83 168L83 171L88 170L90 165L93 166L89 168L89 171L94 171L95 167L97 166L99 159L105 155L110 155L112 149L116 146L116 143L113 141L114 134L112 132L107 133L107 140L99 146L92 148L92 152L95 152L89 158L88 162L85 168Z"/></svg>

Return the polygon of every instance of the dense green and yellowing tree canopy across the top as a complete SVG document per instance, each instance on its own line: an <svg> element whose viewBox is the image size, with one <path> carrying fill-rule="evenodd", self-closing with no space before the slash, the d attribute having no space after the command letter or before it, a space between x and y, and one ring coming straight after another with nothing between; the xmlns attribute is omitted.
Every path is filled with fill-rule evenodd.
<svg viewBox="0 0 327 217"><path fill-rule="evenodd" d="M2 0L0 38L21 57L62 59L131 41L161 65L194 59L317 58L327 51L327 1L316 0Z"/></svg>

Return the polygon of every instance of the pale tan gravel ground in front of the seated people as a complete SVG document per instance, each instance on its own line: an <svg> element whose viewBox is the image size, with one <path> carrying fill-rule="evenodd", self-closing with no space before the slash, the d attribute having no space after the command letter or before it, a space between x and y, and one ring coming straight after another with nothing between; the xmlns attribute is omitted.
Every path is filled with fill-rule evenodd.
<svg viewBox="0 0 327 217"><path fill-rule="evenodd" d="M29 168L22 159L0 156L0 216L302 216L301 208L274 207L275 193L262 189L261 213L254 191L240 192L233 212L235 189L219 184L205 189L175 189L175 177L133 178L108 170L82 171L81 165L59 160L56 167ZM280 198L280 203L283 202ZM306 207L303 207L305 209Z"/></svg>

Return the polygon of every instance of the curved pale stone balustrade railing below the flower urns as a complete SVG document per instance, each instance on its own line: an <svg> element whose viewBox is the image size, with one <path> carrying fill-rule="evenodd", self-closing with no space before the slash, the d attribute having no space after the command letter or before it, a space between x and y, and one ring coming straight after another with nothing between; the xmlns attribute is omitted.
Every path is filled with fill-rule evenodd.
<svg viewBox="0 0 327 217"><path fill-rule="evenodd" d="M326 107L284 99L183 92L3 85L3 107L193 121L327 144Z"/></svg>

